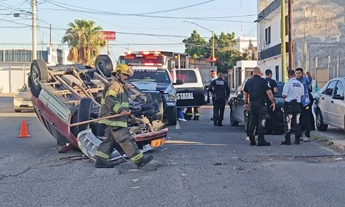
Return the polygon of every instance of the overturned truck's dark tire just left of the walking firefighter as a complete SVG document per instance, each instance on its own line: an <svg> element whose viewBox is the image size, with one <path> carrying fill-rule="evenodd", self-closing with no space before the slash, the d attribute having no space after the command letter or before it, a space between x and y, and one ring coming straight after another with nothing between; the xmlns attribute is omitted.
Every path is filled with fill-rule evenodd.
<svg viewBox="0 0 345 207"><path fill-rule="evenodd" d="M72 116L71 123L77 123L90 120L92 101L90 98L82 98L79 104L79 110ZM82 124L70 128L71 133L77 137L79 132L88 129L89 124Z"/></svg>

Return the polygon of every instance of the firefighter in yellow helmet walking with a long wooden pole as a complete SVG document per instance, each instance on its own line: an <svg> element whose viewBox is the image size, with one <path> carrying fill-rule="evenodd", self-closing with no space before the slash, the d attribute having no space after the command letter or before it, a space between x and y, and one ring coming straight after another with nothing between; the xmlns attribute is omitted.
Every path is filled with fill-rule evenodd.
<svg viewBox="0 0 345 207"><path fill-rule="evenodd" d="M128 76L134 74L126 64L118 64L113 71L115 77L104 88L101 99L100 118L114 114L122 114L118 118L104 119L99 124L106 125L104 136L106 137L98 150L96 151L96 168L114 168L115 164L107 159L117 143L122 150L129 156L131 161L137 165L138 169L147 171L155 170L156 167L149 164L152 156L145 158L140 152L134 137L127 128L127 119L129 112L129 100L126 94L126 80Z"/></svg>

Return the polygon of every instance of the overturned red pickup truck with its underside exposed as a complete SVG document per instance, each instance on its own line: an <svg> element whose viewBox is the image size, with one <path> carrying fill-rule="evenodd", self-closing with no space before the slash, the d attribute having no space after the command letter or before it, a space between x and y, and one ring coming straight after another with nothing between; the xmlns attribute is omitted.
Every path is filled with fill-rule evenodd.
<svg viewBox="0 0 345 207"><path fill-rule="evenodd" d="M104 138L104 126L88 122L99 117L102 92L112 79L113 69L106 55L98 56L95 65L47 66L42 60L34 60L28 80L37 117L58 145L70 143L91 159ZM163 145L168 128L163 123L161 96L145 94L126 84L132 112L128 128L139 148L146 152ZM114 146L110 160L122 162L124 157L122 149Z"/></svg>

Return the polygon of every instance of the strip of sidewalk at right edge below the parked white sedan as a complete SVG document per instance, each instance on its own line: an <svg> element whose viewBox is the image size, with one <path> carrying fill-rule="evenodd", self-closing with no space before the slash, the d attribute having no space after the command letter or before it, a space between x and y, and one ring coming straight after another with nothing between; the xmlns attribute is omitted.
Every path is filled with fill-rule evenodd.
<svg viewBox="0 0 345 207"><path fill-rule="evenodd" d="M342 129L328 126L328 129L325 132L317 130L311 131L311 138L345 150L345 132Z"/></svg>

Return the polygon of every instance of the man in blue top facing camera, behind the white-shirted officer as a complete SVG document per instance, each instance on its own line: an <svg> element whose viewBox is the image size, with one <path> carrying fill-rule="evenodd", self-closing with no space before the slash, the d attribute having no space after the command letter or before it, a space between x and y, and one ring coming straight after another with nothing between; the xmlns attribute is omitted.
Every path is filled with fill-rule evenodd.
<svg viewBox="0 0 345 207"><path fill-rule="evenodd" d="M311 85L311 77L307 76L305 77L303 73L303 69L298 68L295 70L297 80L299 80L304 87L304 95L302 96L302 113L301 113L301 124L302 129L306 131L305 138L303 138L303 141L309 141L310 140L310 131L311 131L311 122L310 122L310 116L311 116L311 95L310 95L310 85Z"/></svg>

